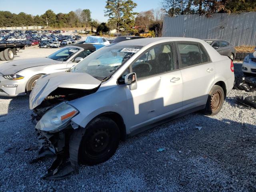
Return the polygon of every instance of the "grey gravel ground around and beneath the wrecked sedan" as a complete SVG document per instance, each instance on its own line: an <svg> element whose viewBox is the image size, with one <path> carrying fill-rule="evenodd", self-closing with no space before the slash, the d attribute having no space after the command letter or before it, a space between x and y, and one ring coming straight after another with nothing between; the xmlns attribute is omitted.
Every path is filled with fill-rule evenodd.
<svg viewBox="0 0 256 192"><path fill-rule="evenodd" d="M40 179L51 159L28 163L36 151L24 149L37 146L28 97L0 97L0 191L256 191L256 110L234 98L254 94L232 90L218 115L158 126L121 142L107 162L58 181Z"/></svg>

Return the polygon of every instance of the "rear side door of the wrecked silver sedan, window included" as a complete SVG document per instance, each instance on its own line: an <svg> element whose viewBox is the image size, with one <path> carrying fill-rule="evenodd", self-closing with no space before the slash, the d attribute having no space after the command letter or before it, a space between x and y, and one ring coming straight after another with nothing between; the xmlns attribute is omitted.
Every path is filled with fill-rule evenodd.
<svg viewBox="0 0 256 192"><path fill-rule="evenodd" d="M176 42L183 80L183 110L206 104L214 81L214 64L198 42Z"/></svg>

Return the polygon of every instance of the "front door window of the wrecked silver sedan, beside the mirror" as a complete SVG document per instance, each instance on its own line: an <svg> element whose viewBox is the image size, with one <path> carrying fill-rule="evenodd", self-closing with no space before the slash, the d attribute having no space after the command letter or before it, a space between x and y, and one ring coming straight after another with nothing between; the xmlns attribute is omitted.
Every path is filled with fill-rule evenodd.
<svg viewBox="0 0 256 192"><path fill-rule="evenodd" d="M137 78L152 76L175 69L174 51L171 44L156 46L140 56L132 64Z"/></svg>

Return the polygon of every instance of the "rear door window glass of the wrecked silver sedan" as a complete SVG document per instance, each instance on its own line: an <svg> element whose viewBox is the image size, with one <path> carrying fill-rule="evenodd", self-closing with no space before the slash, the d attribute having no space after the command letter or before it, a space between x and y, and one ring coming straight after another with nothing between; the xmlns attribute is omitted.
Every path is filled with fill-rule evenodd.
<svg viewBox="0 0 256 192"><path fill-rule="evenodd" d="M202 63L201 52L198 44L177 43L180 52L182 67L193 66Z"/></svg>

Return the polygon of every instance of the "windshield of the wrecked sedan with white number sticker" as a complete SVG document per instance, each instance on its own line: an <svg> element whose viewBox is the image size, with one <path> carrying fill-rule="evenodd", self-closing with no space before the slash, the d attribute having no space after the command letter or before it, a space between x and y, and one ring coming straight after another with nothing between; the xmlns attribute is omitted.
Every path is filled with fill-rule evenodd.
<svg viewBox="0 0 256 192"><path fill-rule="evenodd" d="M142 46L106 46L84 58L70 72L88 73L104 80L110 77L122 64Z"/></svg>

